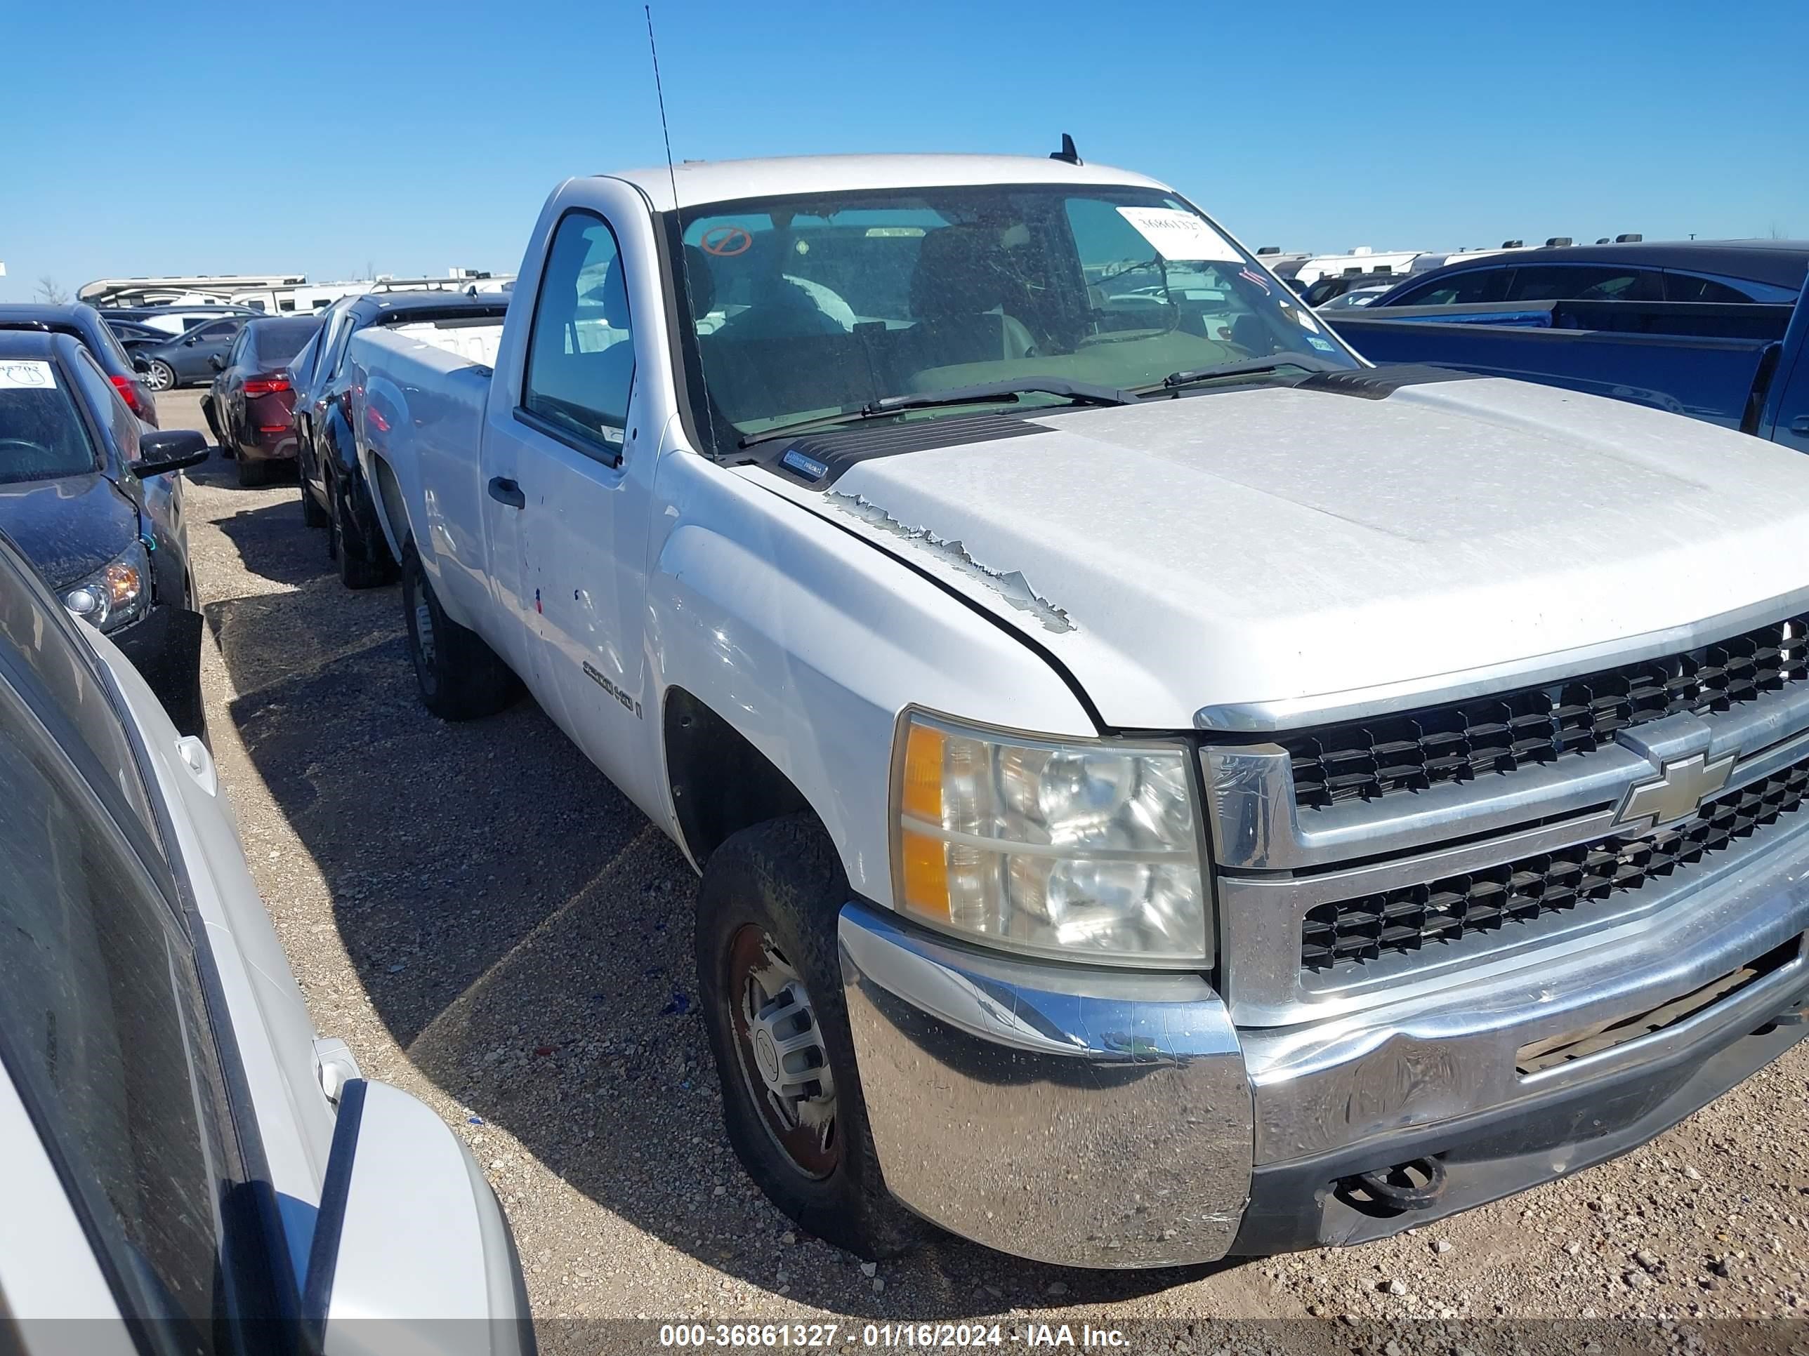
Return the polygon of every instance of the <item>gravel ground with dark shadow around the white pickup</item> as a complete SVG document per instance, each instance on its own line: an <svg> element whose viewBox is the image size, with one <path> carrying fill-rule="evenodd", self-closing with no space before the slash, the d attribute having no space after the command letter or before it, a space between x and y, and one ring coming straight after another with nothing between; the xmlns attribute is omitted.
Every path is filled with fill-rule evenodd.
<svg viewBox="0 0 1809 1356"><path fill-rule="evenodd" d="M195 396L161 396L165 427L201 427ZM1187 1345L1185 1323L1312 1314L1348 1318L1288 1331L1380 1349L1373 1320L1809 1316L1802 1047L1635 1154L1362 1248L1102 1275L953 1238L870 1267L800 1237L722 1134L678 852L532 702L427 716L398 589L342 589L293 485L241 490L223 461L190 481L251 875L317 1027L485 1164L543 1322L1091 1322Z"/></svg>

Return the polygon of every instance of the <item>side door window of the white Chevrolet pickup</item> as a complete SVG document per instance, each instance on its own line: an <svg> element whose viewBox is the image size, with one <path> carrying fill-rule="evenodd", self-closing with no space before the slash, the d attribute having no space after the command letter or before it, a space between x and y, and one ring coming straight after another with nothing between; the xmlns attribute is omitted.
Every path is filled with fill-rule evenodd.
<svg viewBox="0 0 1809 1356"><path fill-rule="evenodd" d="M601 217L573 212L546 251L521 409L586 456L615 465L633 383L620 250Z"/></svg>

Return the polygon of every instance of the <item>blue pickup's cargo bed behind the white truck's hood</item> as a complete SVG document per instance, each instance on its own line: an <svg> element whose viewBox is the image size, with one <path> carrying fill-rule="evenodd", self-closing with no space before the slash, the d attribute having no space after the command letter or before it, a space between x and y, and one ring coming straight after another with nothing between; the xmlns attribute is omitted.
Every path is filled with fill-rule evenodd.
<svg viewBox="0 0 1809 1356"><path fill-rule="evenodd" d="M1369 362L1511 376L1746 427L1760 363L1789 306L1541 302L1413 306L1339 316Z"/></svg>

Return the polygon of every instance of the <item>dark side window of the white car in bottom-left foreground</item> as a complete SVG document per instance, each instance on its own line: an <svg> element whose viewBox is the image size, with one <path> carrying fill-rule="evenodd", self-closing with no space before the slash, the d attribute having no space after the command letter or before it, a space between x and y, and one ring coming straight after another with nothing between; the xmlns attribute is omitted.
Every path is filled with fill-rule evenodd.
<svg viewBox="0 0 1809 1356"><path fill-rule="evenodd" d="M109 1264L172 1351L213 1349L230 1172L188 933L0 683L0 1054Z"/></svg>

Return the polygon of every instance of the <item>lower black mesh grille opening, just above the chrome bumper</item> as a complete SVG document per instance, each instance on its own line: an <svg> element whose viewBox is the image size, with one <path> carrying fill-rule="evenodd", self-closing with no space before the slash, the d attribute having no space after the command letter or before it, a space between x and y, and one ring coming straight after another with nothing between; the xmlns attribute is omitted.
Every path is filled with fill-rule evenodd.
<svg viewBox="0 0 1809 1356"><path fill-rule="evenodd" d="M1664 828L1615 833L1465 875L1321 904L1308 911L1301 931L1301 965L1326 971L1384 953L1422 951L1608 899L1621 890L1639 890L1652 877L1670 875L1791 814L1805 792L1809 759L1704 801L1693 815Z"/></svg>

